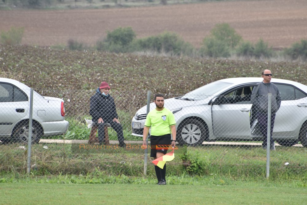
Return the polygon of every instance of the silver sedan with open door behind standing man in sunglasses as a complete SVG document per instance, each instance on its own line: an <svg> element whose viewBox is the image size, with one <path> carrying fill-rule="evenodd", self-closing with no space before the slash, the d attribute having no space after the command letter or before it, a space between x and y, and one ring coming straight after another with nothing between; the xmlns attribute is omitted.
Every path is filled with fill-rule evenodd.
<svg viewBox="0 0 307 205"><path fill-rule="evenodd" d="M177 122L177 142L197 145L204 141L262 140L251 104L251 92L262 78L227 78L209 83L185 95L165 99ZM272 79L282 98L276 113L273 138L280 145L298 141L307 147L307 86ZM150 104L150 110L154 109ZM146 106L132 119L132 135L142 136Z"/></svg>

